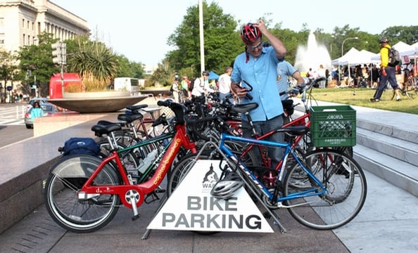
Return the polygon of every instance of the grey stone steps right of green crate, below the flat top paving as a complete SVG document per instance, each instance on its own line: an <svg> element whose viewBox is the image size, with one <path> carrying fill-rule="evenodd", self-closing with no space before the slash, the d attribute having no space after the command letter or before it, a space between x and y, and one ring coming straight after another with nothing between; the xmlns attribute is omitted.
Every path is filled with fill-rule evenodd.
<svg viewBox="0 0 418 253"><path fill-rule="evenodd" d="M389 130L376 122L363 123L357 118L355 160L362 169L418 197L417 133L399 128Z"/></svg>

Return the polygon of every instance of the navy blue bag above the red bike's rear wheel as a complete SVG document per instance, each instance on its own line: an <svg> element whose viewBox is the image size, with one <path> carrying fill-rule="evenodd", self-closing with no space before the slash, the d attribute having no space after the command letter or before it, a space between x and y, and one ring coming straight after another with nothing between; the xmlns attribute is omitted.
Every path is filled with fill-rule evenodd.
<svg viewBox="0 0 418 253"><path fill-rule="evenodd" d="M72 137L65 141L61 152L64 156L85 154L99 157L100 146L93 138Z"/></svg>

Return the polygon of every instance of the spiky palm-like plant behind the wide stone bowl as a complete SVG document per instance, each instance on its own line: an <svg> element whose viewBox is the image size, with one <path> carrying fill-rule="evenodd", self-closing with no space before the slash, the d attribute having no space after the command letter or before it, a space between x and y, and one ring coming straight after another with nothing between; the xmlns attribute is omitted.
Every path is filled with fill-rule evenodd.
<svg viewBox="0 0 418 253"><path fill-rule="evenodd" d="M79 41L78 46L70 71L80 74L85 91L106 90L118 72L117 56L99 41Z"/></svg>

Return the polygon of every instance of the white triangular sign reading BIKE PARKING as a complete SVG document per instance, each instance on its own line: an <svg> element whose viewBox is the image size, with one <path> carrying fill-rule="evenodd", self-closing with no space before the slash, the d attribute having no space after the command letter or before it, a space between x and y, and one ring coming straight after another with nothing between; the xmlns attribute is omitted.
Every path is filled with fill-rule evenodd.
<svg viewBox="0 0 418 253"><path fill-rule="evenodd" d="M243 187L229 200L210 195L222 173L219 164L198 160L147 228L274 233Z"/></svg>

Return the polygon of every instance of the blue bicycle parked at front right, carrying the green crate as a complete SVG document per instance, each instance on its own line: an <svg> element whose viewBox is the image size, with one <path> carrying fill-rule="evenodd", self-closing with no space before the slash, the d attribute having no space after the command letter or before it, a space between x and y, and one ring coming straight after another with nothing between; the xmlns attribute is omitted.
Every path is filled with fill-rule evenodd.
<svg viewBox="0 0 418 253"><path fill-rule="evenodd" d="M203 118L189 120L188 128L193 129L194 124L201 124L205 121L215 121L214 125L222 126L222 119ZM308 131L309 129L305 126L277 129L277 132L284 132L291 136L306 134ZM277 209L288 209L291 216L304 226L327 230L343 226L354 219L365 203L367 195L365 174L352 157L339 150L324 148L303 154L296 148L292 148L291 142L274 143L225 133L222 133L220 138L216 135L202 136L198 131L194 134L205 139L206 143L200 153L185 157L173 169L172 176L167 182L168 195L172 194L176 186L181 183L196 160L208 159L208 153L205 153L204 157L200 155L203 150L209 149L212 153L222 156L223 174L237 174L253 200L258 201L267 214L270 214L282 233L286 232L286 229L279 222L279 217L275 212ZM238 145L234 146L231 143ZM247 143L284 150L279 175L273 186L271 184L266 186L253 173L252 164L246 164L246 161L239 158L240 151L236 150L236 147L242 147ZM221 190L234 190L236 186L236 184L225 185ZM231 197L230 194L225 196Z"/></svg>

